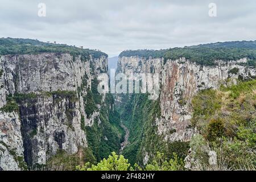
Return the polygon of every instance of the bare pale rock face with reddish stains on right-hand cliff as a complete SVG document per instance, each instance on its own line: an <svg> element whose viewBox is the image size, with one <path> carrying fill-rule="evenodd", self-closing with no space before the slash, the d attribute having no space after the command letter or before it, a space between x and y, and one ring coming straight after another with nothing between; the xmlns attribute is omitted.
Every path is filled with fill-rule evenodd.
<svg viewBox="0 0 256 182"><path fill-rule="evenodd" d="M188 142L196 132L190 122L192 97L202 89L216 89L221 84L236 84L238 78L255 77L255 68L245 66L246 63L247 59L228 62L216 60L214 66L205 66L184 58L164 60L123 56L119 57L118 72L158 73L160 115L155 117L151 125L157 128L155 134L165 142ZM122 98L118 100L122 101ZM147 140L147 137L143 140ZM150 148L143 148L144 159L148 158L148 153Z"/></svg>

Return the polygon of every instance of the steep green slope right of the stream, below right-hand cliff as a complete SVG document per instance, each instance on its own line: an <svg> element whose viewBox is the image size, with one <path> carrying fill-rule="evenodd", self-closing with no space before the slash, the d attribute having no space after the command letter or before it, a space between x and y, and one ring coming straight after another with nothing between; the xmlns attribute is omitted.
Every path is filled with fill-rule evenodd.
<svg viewBox="0 0 256 182"><path fill-rule="evenodd" d="M128 104L121 109L121 119L130 131L130 144L125 147L122 154L129 159L131 164L135 164L142 161L142 155L139 153L143 135L146 135L145 124L155 117L153 113L157 112L156 106L158 105L148 100L147 94L133 94L130 97ZM152 135L155 134L152 133Z"/></svg>

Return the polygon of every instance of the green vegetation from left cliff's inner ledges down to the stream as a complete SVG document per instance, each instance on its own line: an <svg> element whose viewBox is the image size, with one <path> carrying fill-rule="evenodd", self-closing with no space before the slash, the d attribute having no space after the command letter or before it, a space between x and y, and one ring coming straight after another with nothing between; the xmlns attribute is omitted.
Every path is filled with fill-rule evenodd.
<svg viewBox="0 0 256 182"><path fill-rule="evenodd" d="M84 98L85 113L91 115L94 111L99 111L100 115L93 121L92 126L82 126L84 129L89 147L92 148L93 155L97 161L107 158L115 151L118 153L125 131L121 127L120 117L114 109L114 98L111 94L106 94L104 104L102 95L97 92L96 80L92 80L92 89ZM101 107L98 109L97 104Z"/></svg>

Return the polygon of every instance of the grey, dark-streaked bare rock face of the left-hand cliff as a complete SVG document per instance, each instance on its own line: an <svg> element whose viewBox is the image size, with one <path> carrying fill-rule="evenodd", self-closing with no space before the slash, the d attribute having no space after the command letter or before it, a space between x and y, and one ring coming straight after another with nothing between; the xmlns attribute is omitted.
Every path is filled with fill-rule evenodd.
<svg viewBox="0 0 256 182"><path fill-rule="evenodd" d="M86 113L85 97L92 80L107 73L107 57L40 53L0 61L1 169L46 164L59 149L75 154L88 147L83 127L92 125L100 108Z"/></svg>

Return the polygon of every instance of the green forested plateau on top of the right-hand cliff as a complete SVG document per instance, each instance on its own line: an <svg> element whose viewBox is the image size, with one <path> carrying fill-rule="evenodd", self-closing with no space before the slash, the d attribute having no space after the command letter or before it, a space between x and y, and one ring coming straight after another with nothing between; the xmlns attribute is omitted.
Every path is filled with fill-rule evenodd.
<svg viewBox="0 0 256 182"><path fill-rule="evenodd" d="M254 42L225 42L203 44L184 48L170 48L156 50L123 51L122 56L139 56L148 59L163 57L164 60L176 60L185 57L200 65L216 65L216 60L230 61L247 58L247 65L256 68L256 46Z"/></svg>

